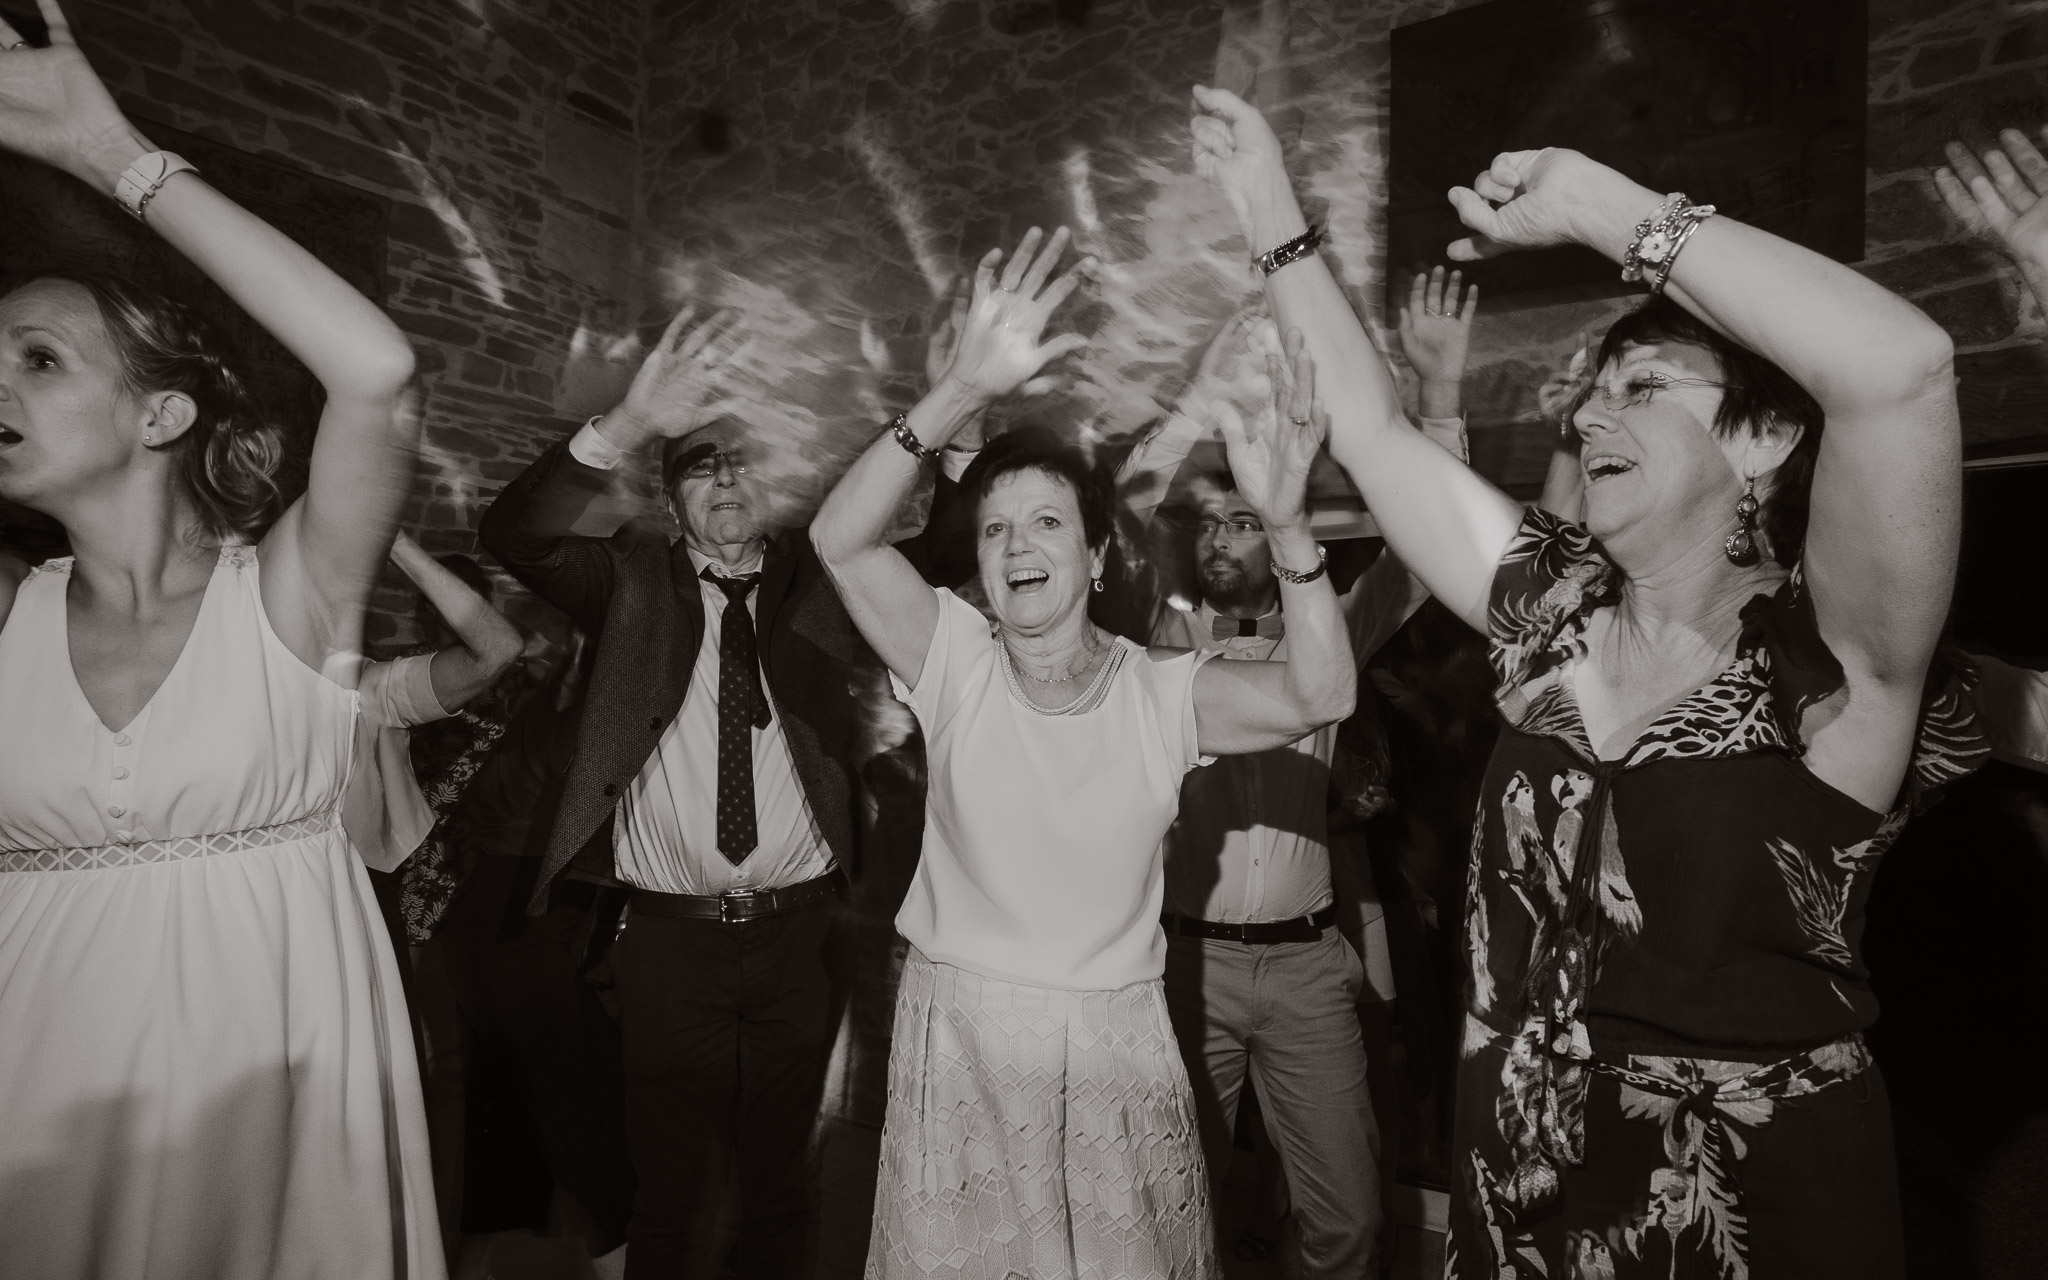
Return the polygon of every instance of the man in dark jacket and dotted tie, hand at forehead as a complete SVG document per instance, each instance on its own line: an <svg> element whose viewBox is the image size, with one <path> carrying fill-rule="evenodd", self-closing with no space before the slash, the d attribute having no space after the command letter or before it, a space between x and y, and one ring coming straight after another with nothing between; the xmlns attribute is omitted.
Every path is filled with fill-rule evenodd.
<svg viewBox="0 0 2048 1280"><path fill-rule="evenodd" d="M702 420L731 328L684 324L614 410L506 485L479 535L598 637L530 909L571 862L633 887L612 952L639 1178L627 1276L717 1276L735 1225L741 1274L795 1276L834 1036L825 942L860 860L862 649L805 530L772 530L745 426ZM653 440L682 541L641 522L571 535Z"/></svg>

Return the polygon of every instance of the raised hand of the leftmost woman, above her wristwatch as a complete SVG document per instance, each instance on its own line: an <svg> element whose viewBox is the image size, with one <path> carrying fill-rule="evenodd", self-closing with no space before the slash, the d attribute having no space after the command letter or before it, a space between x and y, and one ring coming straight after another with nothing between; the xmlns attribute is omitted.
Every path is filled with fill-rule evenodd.
<svg viewBox="0 0 2048 1280"><path fill-rule="evenodd" d="M37 8L49 25L43 49L0 20L0 147L98 186L104 170L121 172L143 147L57 0L37 0Z"/></svg>

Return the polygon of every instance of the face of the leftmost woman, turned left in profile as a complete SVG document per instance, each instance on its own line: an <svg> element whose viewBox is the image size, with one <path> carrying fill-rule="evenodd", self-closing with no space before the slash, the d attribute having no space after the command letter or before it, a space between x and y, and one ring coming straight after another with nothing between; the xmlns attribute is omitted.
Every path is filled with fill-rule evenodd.
<svg viewBox="0 0 2048 1280"><path fill-rule="evenodd" d="M0 498L57 514L141 453L145 418L82 285L31 281L0 299Z"/></svg>

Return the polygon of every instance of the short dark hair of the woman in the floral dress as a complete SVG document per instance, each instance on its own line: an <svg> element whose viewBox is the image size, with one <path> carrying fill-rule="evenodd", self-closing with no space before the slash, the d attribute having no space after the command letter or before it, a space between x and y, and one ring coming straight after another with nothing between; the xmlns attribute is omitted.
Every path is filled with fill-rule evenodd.
<svg viewBox="0 0 2048 1280"><path fill-rule="evenodd" d="M1757 512L1763 549L1769 557L1782 565L1798 563L1806 547L1812 463L1821 453L1821 428L1825 426L1821 401L1792 381L1790 373L1747 346L1722 338L1667 297L1653 297L1614 322L1614 328L1599 342L1599 358L1593 362L1595 377L1622 354L1624 346L1651 346L1655 342L1700 346L1720 362L1720 381L1726 383L1726 389L1720 393L1720 410L1714 414L1714 432L1722 436L1741 430L1757 432L1757 426L1772 418L1802 428L1792 455L1780 463L1772 477L1769 494L1759 498L1761 510ZM1585 395L1591 395L1591 385ZM1579 403L1585 403L1583 397Z"/></svg>

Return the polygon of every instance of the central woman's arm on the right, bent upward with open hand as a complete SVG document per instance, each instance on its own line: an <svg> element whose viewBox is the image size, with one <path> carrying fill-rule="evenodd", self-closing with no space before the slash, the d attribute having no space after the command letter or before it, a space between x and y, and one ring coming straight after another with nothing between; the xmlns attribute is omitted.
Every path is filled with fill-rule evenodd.
<svg viewBox="0 0 2048 1280"><path fill-rule="evenodd" d="M1245 424L1227 403L1217 403L1217 426L1231 461L1237 492L1266 526L1280 573L1280 608L1286 612L1286 662L1208 662L1194 676L1194 725L1204 756L1235 756L1286 745L1323 725L1352 715L1358 700L1358 662L1321 547L1309 532L1309 469L1329 430L1315 399L1315 365L1300 336L1288 334L1292 377L1270 356L1272 395L1266 412ZM1286 408L1282 408L1282 403Z"/></svg>

